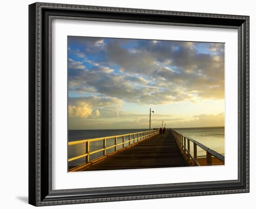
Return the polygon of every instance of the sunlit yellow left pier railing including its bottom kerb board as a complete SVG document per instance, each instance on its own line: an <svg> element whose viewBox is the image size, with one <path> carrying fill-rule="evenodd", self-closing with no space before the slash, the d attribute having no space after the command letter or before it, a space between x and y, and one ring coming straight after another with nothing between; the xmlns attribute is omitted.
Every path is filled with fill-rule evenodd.
<svg viewBox="0 0 256 209"><path fill-rule="evenodd" d="M135 144L138 144L142 140L153 137L156 134L159 134L159 130L141 131L141 132L129 133L129 134L123 134L123 135L92 138L92 139L83 139L83 140L79 140L79 141L68 142L68 147L76 145L76 144L81 144L81 146L85 146L85 148L86 148L85 153L83 153L82 155L79 155L79 156L68 158L68 162L86 157L86 160L83 163L83 166L87 167L90 164L98 163L101 160L104 160L106 157L112 156L117 152L120 152L122 150L126 150L129 147L132 147ZM125 140L125 137L128 137L128 140ZM118 143L119 138L122 138L121 143ZM115 139L115 144L107 146L107 140L109 140L109 139ZM102 141L103 148L91 151L90 150L90 143L95 142L95 141ZM122 148L118 149L118 146L122 146ZM107 150L111 149L111 148L115 148L115 150L107 154ZM95 153L99 153L99 152L103 152L103 156L97 157L96 159L93 159L93 160L90 160L90 155L95 154ZM75 170L76 170L76 168L73 168L73 169L70 169L69 171L75 171Z"/></svg>

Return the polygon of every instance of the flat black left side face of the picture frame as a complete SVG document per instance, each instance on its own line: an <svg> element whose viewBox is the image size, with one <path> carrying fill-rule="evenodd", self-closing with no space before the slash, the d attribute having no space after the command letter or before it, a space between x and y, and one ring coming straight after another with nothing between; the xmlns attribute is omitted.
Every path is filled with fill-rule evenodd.
<svg viewBox="0 0 256 209"><path fill-rule="evenodd" d="M36 205L36 3L28 7L28 203Z"/></svg>

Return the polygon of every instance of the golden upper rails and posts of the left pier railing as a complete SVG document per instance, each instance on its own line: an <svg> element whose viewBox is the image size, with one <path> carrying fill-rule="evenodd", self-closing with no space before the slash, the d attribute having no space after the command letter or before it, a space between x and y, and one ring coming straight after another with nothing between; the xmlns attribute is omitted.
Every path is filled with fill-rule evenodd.
<svg viewBox="0 0 256 209"><path fill-rule="evenodd" d="M68 146L72 146L72 145L75 145L75 144L86 144L86 150L87 150L85 154L82 154L82 155L76 156L76 157L68 158L68 162L80 159L82 157L87 157L86 163L90 163L89 156L92 155L92 154L104 151L103 156L101 156L101 157L104 157L104 156L107 155L106 150L108 150L110 148L115 148L115 151L113 151L113 152L116 152L116 151L118 151L117 147L120 146L120 145L122 145L122 148L125 148L125 144L127 144L127 143L129 143L128 146L131 146L131 145L135 144L135 140L137 140L137 142L139 142L141 140L145 140L147 138L153 137L158 133L159 133L159 130L141 131L141 132L136 132L136 133L129 133L129 134L123 134L123 135L110 136L110 137L82 139L82 140L79 140L79 141L68 142ZM135 135L137 135L136 138L135 138ZM128 141L125 141L126 136L129 136ZM131 136L133 136L133 138ZM119 138L119 137L122 137L122 142L121 143L117 143L117 138ZM107 143L106 143L107 139L115 139L115 144L107 146ZM94 150L94 151L89 151L90 150L89 149L90 148L90 145L89 145L90 142L101 141L101 140L104 140L103 148L98 149L98 150ZM132 141L133 141L133 144L131 144ZM111 152L111 153L113 153L113 152ZM108 153L108 154L110 154L110 153ZM100 158L100 157L98 157L98 158Z"/></svg>

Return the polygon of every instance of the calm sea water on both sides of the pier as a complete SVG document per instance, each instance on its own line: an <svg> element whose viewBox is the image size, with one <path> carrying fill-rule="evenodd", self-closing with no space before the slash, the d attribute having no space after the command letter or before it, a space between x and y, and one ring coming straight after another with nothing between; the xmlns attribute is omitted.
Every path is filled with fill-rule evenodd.
<svg viewBox="0 0 256 209"><path fill-rule="evenodd" d="M211 127L211 128L177 128L176 131L195 139L196 141L204 144L212 150L215 150L221 154L224 154L224 127ZM69 130L68 131L68 141L77 141L81 139L91 139L99 137L108 137L115 135L122 135L128 133L135 133L147 131L147 129L124 129L124 130ZM125 141L128 140L128 137L125 137ZM118 138L118 143L122 142L122 138ZM108 139L107 146L115 144L115 139ZM127 143L128 144L128 143ZM90 151L98 150L103 148L103 141L96 141L90 143ZM120 149L118 147L118 149ZM193 153L193 145L190 145L191 152ZM114 151L114 148L108 149L107 153ZM82 155L86 152L85 144L77 144L69 146L68 148L68 157L75 157ZM90 160L95 159L103 155L103 152L95 153L90 155ZM197 148L197 155L204 156L205 151L200 148ZM68 163L69 166L79 165L84 163L86 160L85 157L77 159Z"/></svg>

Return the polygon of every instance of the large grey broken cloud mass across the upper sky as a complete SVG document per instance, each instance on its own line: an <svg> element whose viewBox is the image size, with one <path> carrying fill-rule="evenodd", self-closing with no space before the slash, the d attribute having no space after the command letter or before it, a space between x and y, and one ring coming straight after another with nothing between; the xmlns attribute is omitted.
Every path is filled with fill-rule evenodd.
<svg viewBox="0 0 256 209"><path fill-rule="evenodd" d="M161 103L194 101L191 95L201 99L224 97L223 44L206 43L212 53L198 53L194 42L106 40L105 43L93 37L70 39L71 43L84 46L81 47L84 52L104 45L101 51L87 52L88 56L99 54L101 60L96 62L85 57L85 62L93 67L81 71L78 63L80 71L70 71L70 83L75 81L106 96L138 104L155 104L157 100ZM123 47L128 44L131 47ZM116 73L114 66L120 71ZM182 94L175 89L182 89Z"/></svg>

